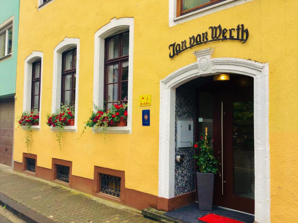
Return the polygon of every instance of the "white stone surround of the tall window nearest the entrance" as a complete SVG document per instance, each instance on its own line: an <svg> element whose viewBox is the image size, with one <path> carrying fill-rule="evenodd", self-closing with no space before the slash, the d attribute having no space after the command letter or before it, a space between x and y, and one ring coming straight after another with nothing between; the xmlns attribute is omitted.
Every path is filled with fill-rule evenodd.
<svg viewBox="0 0 298 223"><path fill-rule="evenodd" d="M128 116L127 126L107 127L107 133L131 134L132 124L132 81L134 61L134 18L113 18L108 24L101 27L94 35L94 82L93 103L103 108L104 100L104 60L105 38L117 31L129 29L129 57L128 57ZM102 128L94 128L93 132L101 132Z"/></svg>

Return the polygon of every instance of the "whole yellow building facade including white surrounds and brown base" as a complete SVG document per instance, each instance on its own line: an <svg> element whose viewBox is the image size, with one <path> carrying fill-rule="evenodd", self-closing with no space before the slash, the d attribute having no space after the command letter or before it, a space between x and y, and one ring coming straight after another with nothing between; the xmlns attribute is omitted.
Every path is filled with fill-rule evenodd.
<svg viewBox="0 0 298 223"><path fill-rule="evenodd" d="M74 189L138 209L179 208L196 196L194 175L179 178L186 166L175 163L176 155L183 154L184 165L194 166L192 153L177 149L176 123L185 118L183 109L177 111L177 95L190 92L181 86L221 73L230 74L231 80L233 75L249 76L254 165L248 169L253 176L249 191L254 194L254 218L259 223L297 222L298 3L227 0L180 16L177 3L20 1L15 120L30 109L32 64L41 61L40 121L33 126L28 151L22 140L26 131L15 131L14 169L26 171L26 158L33 158L37 177L57 180L56 166L68 166L66 185ZM93 104L103 106L105 100L105 40L123 32L129 33L127 126L108 127L106 136L87 128L80 137ZM75 124L64 128L60 149L57 131L46 125L46 115L60 106L62 55L73 48ZM142 95L151 95L150 106L140 106ZM142 125L142 110L150 110L149 126ZM100 193L101 173L121 178L119 197ZM185 182L193 186L185 190Z"/></svg>

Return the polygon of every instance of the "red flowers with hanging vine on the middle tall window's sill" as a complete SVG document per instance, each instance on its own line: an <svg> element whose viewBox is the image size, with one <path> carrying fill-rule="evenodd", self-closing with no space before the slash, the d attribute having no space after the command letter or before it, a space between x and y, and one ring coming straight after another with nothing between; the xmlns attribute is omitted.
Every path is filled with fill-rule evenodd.
<svg viewBox="0 0 298 223"><path fill-rule="evenodd" d="M61 150L62 130L64 126L75 125L75 108L74 106L62 105L60 109L52 114L47 114L46 124L58 129L56 140L58 141Z"/></svg>

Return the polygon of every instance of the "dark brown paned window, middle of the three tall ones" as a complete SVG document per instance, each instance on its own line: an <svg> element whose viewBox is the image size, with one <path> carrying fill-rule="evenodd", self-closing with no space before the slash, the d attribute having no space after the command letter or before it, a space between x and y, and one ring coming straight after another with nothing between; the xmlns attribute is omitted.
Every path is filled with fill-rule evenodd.
<svg viewBox="0 0 298 223"><path fill-rule="evenodd" d="M62 53L61 103L75 105L77 48Z"/></svg>

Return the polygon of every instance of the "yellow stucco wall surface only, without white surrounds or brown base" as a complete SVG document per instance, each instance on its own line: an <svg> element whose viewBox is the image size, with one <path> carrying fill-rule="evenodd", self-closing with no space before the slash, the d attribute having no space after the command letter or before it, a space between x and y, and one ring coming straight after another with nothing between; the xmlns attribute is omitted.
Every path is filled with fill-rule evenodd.
<svg viewBox="0 0 298 223"><path fill-rule="evenodd" d="M41 51L44 115L41 130L32 134L34 142L30 148L30 153L38 156L38 166L51 168L52 157L70 160L73 175L90 179L94 165L124 170L127 188L158 195L159 81L195 62L193 51L212 47L213 58L234 57L269 64L271 222L298 221L297 1L272 4L269 0L253 0L170 28L168 1L117 1L117 7L111 7L110 1L55 0L40 11L36 3L37 0L21 0L20 5L15 110L17 117L23 107L24 60L32 51ZM100 134L88 130L76 141L92 109L94 33L114 17L134 17L135 23L132 134L109 134L105 144ZM38 21L38 26L32 21ZM229 29L242 23L249 29L245 44L218 41L195 46L173 59L168 57L171 43L188 40L209 26L221 24ZM51 112L53 49L65 37L80 38L80 90L78 132L63 132L60 151L55 132L46 126L45 114ZM143 127L141 122L144 108L138 103L143 94L152 96L152 106L146 108L150 109L150 127ZM16 161L22 161L22 152L26 152L21 141L24 134L23 130L15 132Z"/></svg>

